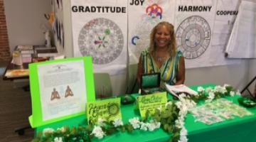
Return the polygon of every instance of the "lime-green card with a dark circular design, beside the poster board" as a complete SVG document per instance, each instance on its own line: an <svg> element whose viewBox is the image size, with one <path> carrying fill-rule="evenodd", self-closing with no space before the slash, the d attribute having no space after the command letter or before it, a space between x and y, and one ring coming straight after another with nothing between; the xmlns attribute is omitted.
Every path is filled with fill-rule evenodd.
<svg viewBox="0 0 256 142"><path fill-rule="evenodd" d="M120 101L120 98L114 98L97 102L87 102L86 114L88 124L95 124L98 119L105 119L107 121L122 119Z"/></svg>

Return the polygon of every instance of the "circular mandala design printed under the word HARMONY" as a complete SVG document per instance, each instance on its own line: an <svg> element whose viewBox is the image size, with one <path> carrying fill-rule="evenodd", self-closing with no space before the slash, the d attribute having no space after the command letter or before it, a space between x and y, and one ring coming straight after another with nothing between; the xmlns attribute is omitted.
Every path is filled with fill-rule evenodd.
<svg viewBox="0 0 256 142"><path fill-rule="evenodd" d="M198 58L210 45L210 26L201 16L190 16L178 26L176 40L184 58Z"/></svg>

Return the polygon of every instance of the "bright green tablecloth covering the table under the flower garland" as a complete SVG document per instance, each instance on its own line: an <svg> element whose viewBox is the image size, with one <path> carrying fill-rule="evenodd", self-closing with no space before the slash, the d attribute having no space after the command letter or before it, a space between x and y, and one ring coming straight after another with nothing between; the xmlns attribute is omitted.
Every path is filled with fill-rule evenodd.
<svg viewBox="0 0 256 142"><path fill-rule="evenodd" d="M203 87L214 86L214 84L205 84ZM197 86L191 87L192 89ZM169 96L171 98L171 96ZM230 101L238 104L238 97L227 97ZM124 105L121 107L122 119L127 123L129 119L134 116L139 116L137 111L134 111L134 104ZM236 117L232 120L226 120L218 124L207 125L201 122L195 122L192 114L187 114L186 129L188 130L188 141L256 141L254 129L256 128L256 108L247 109L254 115L245 116L242 118ZM43 131L45 128L57 129L62 126L78 126L86 125L85 116L78 116L73 119L60 121L55 124L41 126L36 129L36 133ZM162 129L157 129L153 132L136 130L133 133L115 133L112 136L105 136L98 140L94 138L93 141L167 141L171 136Z"/></svg>

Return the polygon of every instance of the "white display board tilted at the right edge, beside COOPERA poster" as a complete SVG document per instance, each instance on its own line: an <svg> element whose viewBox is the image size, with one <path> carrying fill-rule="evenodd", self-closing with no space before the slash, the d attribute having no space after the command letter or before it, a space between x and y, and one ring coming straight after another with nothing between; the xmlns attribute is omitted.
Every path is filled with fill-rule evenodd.
<svg viewBox="0 0 256 142"><path fill-rule="evenodd" d="M256 58L256 2L242 1L225 52L228 58Z"/></svg>

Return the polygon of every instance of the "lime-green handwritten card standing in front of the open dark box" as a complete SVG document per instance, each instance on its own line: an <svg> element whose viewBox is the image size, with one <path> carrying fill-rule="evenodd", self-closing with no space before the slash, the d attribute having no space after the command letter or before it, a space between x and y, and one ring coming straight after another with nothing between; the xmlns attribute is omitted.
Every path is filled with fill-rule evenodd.
<svg viewBox="0 0 256 142"><path fill-rule="evenodd" d="M139 112L142 118L144 118L146 111L149 111L150 114L154 114L155 109L165 107L167 103L166 92L139 96L137 101L139 103Z"/></svg>

